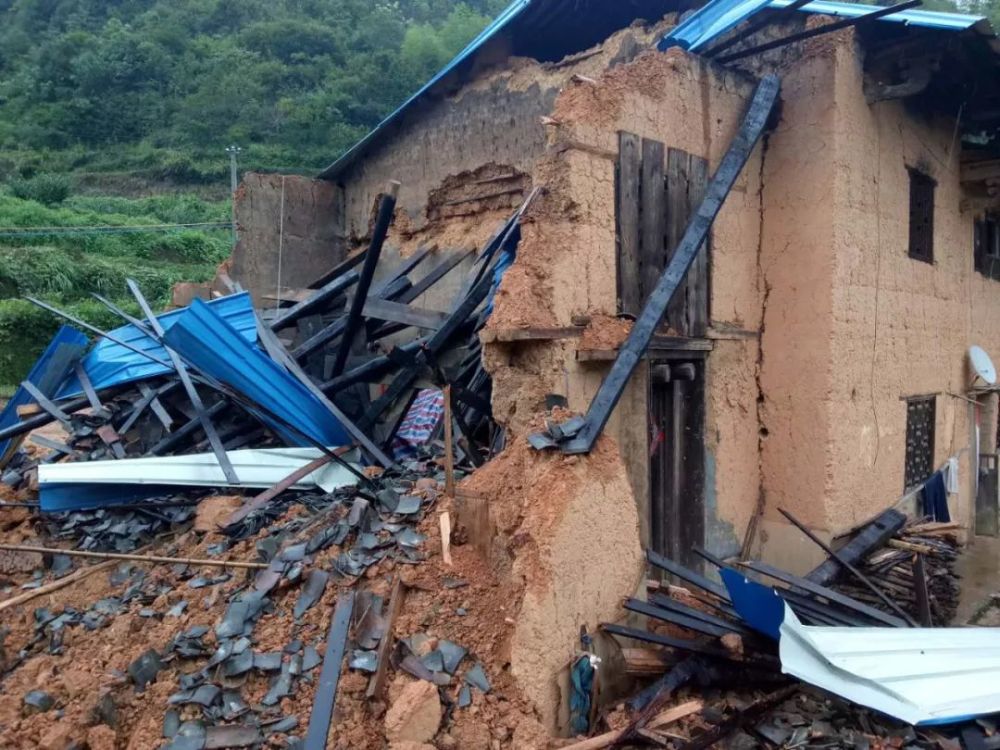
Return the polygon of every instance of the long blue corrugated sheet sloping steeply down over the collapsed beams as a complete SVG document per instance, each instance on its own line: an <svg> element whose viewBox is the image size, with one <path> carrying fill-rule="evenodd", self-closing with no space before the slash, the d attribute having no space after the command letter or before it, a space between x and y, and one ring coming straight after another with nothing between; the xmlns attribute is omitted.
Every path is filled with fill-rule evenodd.
<svg viewBox="0 0 1000 750"><path fill-rule="evenodd" d="M317 443L340 446L350 442L343 425L322 401L201 300L195 300L174 321L164 341L198 370L280 414ZM311 445L267 414L259 416L289 445Z"/></svg>

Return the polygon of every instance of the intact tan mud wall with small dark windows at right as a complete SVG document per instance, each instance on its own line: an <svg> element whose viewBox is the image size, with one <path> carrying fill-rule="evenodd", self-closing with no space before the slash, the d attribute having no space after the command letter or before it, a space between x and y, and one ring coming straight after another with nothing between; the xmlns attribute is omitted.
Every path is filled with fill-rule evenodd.
<svg viewBox="0 0 1000 750"><path fill-rule="evenodd" d="M851 34L811 50L786 71L765 162L762 534L774 562L809 557L777 507L829 537L903 496L907 396L939 394L935 465L960 463L953 517L967 523L974 502L973 407L948 394L971 382L968 347L1000 340L1000 287L973 270L954 122L869 106L862 82ZM908 166L937 180L933 264L908 257Z"/></svg>

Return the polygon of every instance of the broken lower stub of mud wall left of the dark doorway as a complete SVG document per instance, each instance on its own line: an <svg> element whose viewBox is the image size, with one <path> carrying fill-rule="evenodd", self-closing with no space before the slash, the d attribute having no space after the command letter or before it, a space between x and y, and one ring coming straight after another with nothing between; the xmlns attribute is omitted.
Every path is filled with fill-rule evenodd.
<svg viewBox="0 0 1000 750"><path fill-rule="evenodd" d="M540 453L519 438L465 486L489 498L493 567L524 582L511 674L543 725L562 732L564 670L580 627L594 632L619 619L622 597L642 578L639 518L621 455L608 436L588 456Z"/></svg>

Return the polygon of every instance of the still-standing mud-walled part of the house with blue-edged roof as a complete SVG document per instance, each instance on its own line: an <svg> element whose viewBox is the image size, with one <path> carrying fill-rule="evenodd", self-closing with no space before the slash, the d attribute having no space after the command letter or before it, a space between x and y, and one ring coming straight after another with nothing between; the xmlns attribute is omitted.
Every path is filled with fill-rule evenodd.
<svg viewBox="0 0 1000 750"><path fill-rule="evenodd" d="M569 21L528 4L319 181L248 176L233 274L261 299L316 276L367 237L388 179L402 183L390 243L404 255L480 246L539 186L482 336L494 413L520 434L549 394L585 410L755 75L780 71L776 125L612 417L642 539L731 555L763 509L763 554L805 568L811 551L776 507L838 535L952 457L953 512L969 522L997 424L966 356L995 346L1000 320L984 22L905 11L743 55L818 13L865 12L772 7L766 30L711 56L650 51L685 9L639 5Z"/></svg>

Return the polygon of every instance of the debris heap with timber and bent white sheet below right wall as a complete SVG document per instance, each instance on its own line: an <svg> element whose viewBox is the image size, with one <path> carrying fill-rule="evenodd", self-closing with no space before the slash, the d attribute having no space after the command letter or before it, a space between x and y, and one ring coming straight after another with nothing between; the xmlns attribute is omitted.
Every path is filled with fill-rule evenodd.
<svg viewBox="0 0 1000 750"><path fill-rule="evenodd" d="M720 584L648 551L676 584L650 580L624 602L646 628L602 630L640 644L621 649L622 670L654 681L571 747L989 746L992 725L971 719L1000 710L995 631L940 627L957 605L957 526L904 523L888 511L804 578L696 549ZM839 577L816 583L831 564Z"/></svg>

